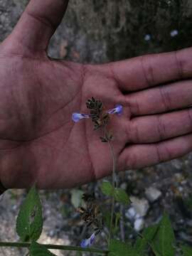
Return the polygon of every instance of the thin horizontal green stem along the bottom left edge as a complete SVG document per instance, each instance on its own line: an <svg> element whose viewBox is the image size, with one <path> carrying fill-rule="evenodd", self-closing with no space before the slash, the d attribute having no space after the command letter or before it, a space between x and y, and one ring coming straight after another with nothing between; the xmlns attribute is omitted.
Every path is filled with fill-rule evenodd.
<svg viewBox="0 0 192 256"><path fill-rule="evenodd" d="M43 245L43 244L41 244ZM0 242L0 247L30 247L30 242ZM95 252L100 255L107 255L106 250L99 250L94 248L82 248L77 246L68 246L68 245L43 245L47 249L55 250L70 250L70 251L80 251L80 252Z"/></svg>

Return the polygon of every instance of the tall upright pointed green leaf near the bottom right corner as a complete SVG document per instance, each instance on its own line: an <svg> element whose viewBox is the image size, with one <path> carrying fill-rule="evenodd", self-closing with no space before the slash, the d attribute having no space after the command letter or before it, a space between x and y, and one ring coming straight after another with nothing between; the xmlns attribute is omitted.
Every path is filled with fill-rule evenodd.
<svg viewBox="0 0 192 256"><path fill-rule="evenodd" d="M171 227L169 216L164 213L161 222L159 223L159 229L152 243L152 249L156 252L156 255L161 256L174 256L175 255L175 236L174 230Z"/></svg>

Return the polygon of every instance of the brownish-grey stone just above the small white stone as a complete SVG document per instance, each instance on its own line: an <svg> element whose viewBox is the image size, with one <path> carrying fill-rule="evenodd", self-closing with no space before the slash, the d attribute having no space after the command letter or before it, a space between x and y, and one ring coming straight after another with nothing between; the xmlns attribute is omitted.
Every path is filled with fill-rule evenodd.
<svg viewBox="0 0 192 256"><path fill-rule="evenodd" d="M132 201L132 207L139 214L139 216L146 215L149 210L149 203L145 198L139 199L135 196L130 196L130 200Z"/></svg>

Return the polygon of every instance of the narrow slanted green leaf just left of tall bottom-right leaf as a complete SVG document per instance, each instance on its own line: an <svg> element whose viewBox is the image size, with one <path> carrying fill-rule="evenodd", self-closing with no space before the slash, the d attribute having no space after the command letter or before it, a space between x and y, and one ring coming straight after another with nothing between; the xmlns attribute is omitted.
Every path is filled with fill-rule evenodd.
<svg viewBox="0 0 192 256"><path fill-rule="evenodd" d="M149 242L151 242L156 235L157 229L158 225L151 225L143 231L142 238L137 238L134 249L139 255L144 254L146 248L149 246Z"/></svg>

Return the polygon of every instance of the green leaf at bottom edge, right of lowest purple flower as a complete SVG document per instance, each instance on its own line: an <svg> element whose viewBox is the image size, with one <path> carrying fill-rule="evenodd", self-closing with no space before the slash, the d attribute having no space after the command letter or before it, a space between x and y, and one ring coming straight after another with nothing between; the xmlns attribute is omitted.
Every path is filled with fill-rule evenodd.
<svg viewBox="0 0 192 256"><path fill-rule="evenodd" d="M137 252L134 250L132 245L128 245L124 242L121 242L119 240L110 240L110 246L109 246L109 256L139 256Z"/></svg>

